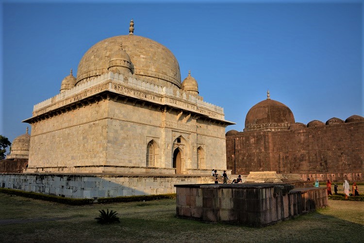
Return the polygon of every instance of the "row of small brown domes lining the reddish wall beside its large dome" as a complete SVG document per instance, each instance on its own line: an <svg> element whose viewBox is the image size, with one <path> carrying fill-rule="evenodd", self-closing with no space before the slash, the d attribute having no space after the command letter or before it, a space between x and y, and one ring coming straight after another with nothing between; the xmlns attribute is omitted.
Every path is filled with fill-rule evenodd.
<svg viewBox="0 0 364 243"><path fill-rule="evenodd" d="M348 123L348 122L364 122L364 117L358 116L358 115L352 115L348 117L345 121L333 117L326 121L326 123L318 120L310 121L307 123L307 125L301 123L301 122L295 122L289 126L289 130L296 130L296 129L304 129L306 127L316 127L316 126L324 126L324 125L333 125L333 124L341 124L341 123ZM230 130L226 133L226 136L232 136L239 133L236 130Z"/></svg>

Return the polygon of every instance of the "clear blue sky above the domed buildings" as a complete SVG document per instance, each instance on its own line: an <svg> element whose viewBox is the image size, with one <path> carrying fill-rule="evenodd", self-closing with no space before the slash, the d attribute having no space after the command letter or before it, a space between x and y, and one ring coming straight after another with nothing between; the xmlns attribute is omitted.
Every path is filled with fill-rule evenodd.
<svg viewBox="0 0 364 243"><path fill-rule="evenodd" d="M295 1L297 2L297 1ZM59 93L69 69L102 39L135 35L165 45L191 69L204 100L244 129L266 99L297 122L363 114L361 1L237 3L3 3L2 124L11 141L25 133L33 105Z"/></svg>

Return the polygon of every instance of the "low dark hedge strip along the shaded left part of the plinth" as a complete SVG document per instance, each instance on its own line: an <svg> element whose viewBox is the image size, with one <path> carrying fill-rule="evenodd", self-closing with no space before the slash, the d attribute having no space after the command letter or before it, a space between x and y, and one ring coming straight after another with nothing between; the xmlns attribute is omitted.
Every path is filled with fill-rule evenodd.
<svg viewBox="0 0 364 243"><path fill-rule="evenodd" d="M40 200L45 200L45 201L64 203L64 204L69 204L69 205L86 205L86 204L93 204L93 202L94 202L94 199L90 199L90 198L67 198L67 197L61 197L61 196L52 196L52 195L42 194L42 193L33 192L33 191L20 191L20 190L9 189L9 188L0 188L0 192L6 193L6 194L11 194L11 195L30 197L30 198L40 199Z"/></svg>

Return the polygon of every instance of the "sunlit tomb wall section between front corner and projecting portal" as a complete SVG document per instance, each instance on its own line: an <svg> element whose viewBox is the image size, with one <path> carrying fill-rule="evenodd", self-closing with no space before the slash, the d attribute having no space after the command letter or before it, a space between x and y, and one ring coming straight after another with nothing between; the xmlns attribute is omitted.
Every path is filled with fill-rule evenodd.
<svg viewBox="0 0 364 243"><path fill-rule="evenodd" d="M110 101L107 121L107 164L123 166L146 166L146 152L149 140L154 139L161 146L163 136L161 112L156 107L142 102ZM156 167L161 155L156 156Z"/></svg>

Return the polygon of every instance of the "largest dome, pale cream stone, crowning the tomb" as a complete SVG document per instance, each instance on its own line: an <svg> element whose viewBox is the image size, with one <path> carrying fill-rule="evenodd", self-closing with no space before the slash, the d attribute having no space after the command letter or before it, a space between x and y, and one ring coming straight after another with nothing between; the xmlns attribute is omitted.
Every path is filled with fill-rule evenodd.
<svg viewBox="0 0 364 243"><path fill-rule="evenodd" d="M77 85L88 78L108 72L110 57L122 49L131 60L136 76L147 77L155 85L181 88L180 65L176 57L162 44L137 35L119 35L101 40L82 57L77 70Z"/></svg>

